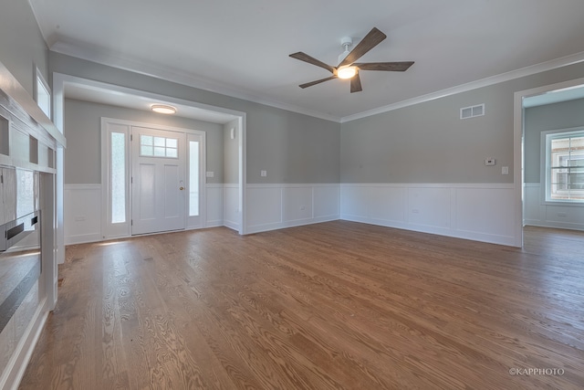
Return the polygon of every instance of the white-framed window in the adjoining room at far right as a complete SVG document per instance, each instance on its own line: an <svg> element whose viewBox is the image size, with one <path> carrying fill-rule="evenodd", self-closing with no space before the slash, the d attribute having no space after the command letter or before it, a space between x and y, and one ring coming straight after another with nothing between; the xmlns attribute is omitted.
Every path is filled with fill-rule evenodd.
<svg viewBox="0 0 584 390"><path fill-rule="evenodd" d="M584 129L542 133L545 200L584 203Z"/></svg>

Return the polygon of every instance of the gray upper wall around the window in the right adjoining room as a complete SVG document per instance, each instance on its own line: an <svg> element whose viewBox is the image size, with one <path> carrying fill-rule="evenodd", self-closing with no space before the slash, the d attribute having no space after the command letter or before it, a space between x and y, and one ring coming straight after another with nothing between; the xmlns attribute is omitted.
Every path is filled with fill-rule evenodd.
<svg viewBox="0 0 584 390"><path fill-rule="evenodd" d="M584 99L531 107L524 118L525 182L539 183L541 132L584 126Z"/></svg>

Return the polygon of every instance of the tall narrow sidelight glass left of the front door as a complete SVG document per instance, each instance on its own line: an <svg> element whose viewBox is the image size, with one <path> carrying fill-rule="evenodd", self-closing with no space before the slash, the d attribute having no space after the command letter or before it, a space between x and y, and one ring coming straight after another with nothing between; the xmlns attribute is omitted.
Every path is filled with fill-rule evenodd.
<svg viewBox="0 0 584 390"><path fill-rule="evenodd" d="M126 134L111 133L111 223L126 222Z"/></svg>

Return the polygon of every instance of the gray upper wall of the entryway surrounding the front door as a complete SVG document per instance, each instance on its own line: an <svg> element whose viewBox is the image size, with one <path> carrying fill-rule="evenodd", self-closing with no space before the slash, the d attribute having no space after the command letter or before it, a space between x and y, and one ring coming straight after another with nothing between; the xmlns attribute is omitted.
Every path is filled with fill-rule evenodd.
<svg viewBox="0 0 584 390"><path fill-rule="evenodd" d="M65 184L101 183L101 117L206 132L207 171L214 171L214 177L207 178L207 183L223 183L223 125L66 99L64 132L68 147L64 160Z"/></svg>

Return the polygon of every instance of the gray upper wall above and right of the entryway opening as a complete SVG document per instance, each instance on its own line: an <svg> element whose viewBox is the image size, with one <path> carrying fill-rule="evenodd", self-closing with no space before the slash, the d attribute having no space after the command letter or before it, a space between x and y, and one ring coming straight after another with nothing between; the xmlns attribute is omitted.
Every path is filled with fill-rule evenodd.
<svg viewBox="0 0 584 390"><path fill-rule="evenodd" d="M246 113L247 183L339 183L340 124L49 53L50 71ZM66 134L67 135L67 134ZM72 146L70 146L72 147ZM266 170L267 176L260 177Z"/></svg>

